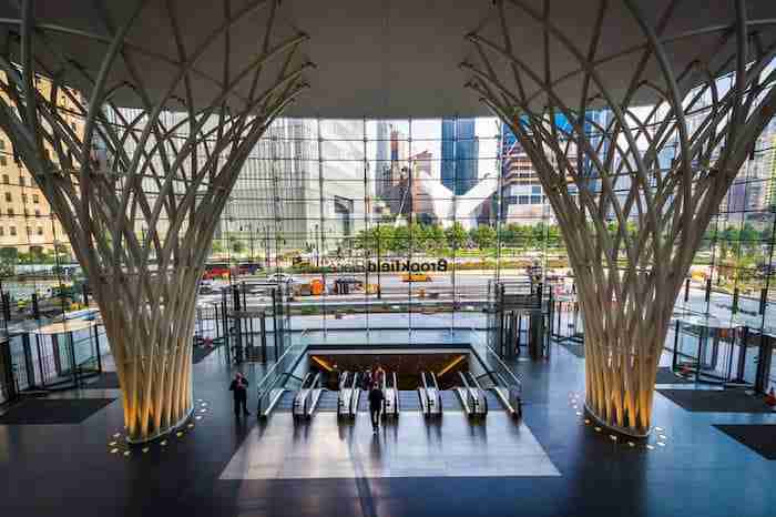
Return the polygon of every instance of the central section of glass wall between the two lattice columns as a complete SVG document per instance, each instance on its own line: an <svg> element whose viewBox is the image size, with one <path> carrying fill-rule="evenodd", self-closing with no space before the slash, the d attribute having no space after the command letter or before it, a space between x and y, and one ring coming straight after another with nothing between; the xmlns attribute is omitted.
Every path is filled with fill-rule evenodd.
<svg viewBox="0 0 776 517"><path fill-rule="evenodd" d="M298 330L416 341L484 328L489 281L543 260L551 221L541 193L532 211L502 204L502 133L490 118L278 120L235 185L211 261L290 278Z"/></svg>

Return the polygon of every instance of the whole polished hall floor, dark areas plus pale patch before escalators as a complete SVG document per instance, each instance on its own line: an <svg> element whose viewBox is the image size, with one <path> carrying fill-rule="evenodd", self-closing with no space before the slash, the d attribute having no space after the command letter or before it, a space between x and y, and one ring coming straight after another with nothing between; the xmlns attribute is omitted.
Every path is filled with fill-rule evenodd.
<svg viewBox="0 0 776 517"><path fill-rule="evenodd" d="M194 366L191 422L146 447L124 443L110 383L28 399L0 415L0 501L28 517L774 515L776 414L721 410L688 395L703 386L662 376L654 429L629 443L585 417L573 346L509 364L521 419L471 420L451 405L433 420L408 408L377 433L366 406L353 420L321 409L295 423L279 409L259 422L253 388L272 364L235 367L221 348ZM237 368L252 387L253 415L239 418L227 391Z"/></svg>

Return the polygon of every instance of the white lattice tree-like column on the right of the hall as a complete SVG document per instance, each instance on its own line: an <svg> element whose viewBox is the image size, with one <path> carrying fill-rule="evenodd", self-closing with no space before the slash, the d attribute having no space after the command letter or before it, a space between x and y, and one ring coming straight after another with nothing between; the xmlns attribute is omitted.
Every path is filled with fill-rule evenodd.
<svg viewBox="0 0 776 517"><path fill-rule="evenodd" d="M676 296L776 111L775 49L764 38L774 20L749 19L733 1L728 24L671 33L677 1L646 13L636 1L600 0L586 11L591 27L570 31L549 0L494 3L496 21L468 36L467 87L514 132L554 209L584 314L588 412L643 436ZM525 37L512 28L531 23L538 44L518 47ZM640 43L616 53L602 43L634 33Z"/></svg>

